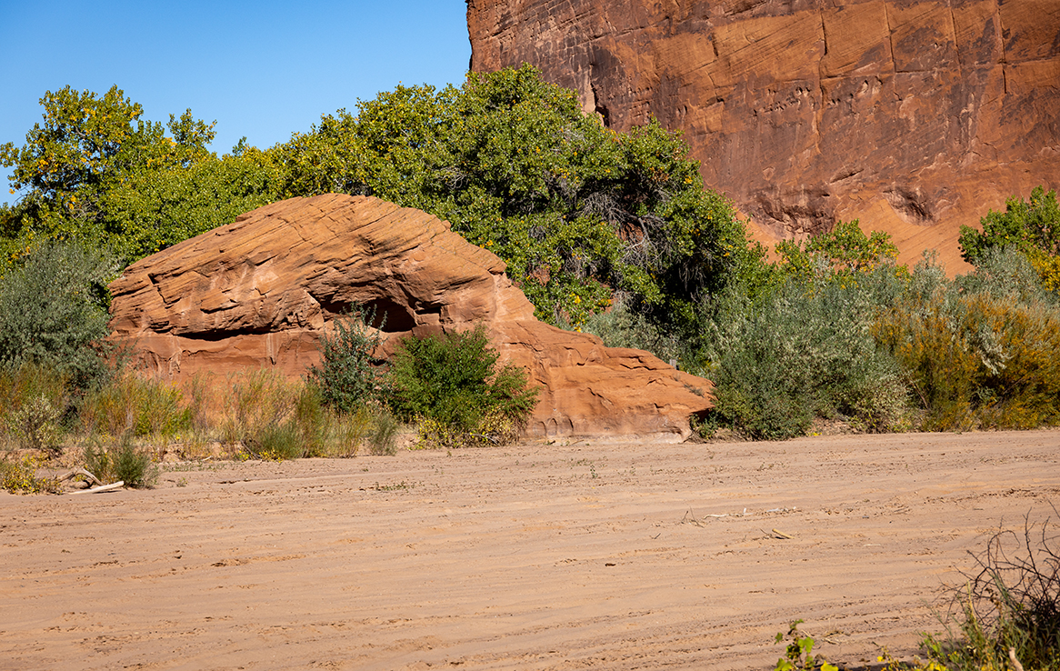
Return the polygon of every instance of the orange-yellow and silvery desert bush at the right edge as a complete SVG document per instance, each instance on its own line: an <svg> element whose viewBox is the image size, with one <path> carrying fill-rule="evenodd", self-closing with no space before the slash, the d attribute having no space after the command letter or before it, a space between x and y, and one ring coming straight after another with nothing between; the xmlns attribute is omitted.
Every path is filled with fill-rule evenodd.
<svg viewBox="0 0 1060 671"><path fill-rule="evenodd" d="M928 261L881 314L876 337L898 359L922 409L922 428L1060 421L1060 310L1027 282L1025 265L1018 255L1000 255L949 282Z"/></svg>

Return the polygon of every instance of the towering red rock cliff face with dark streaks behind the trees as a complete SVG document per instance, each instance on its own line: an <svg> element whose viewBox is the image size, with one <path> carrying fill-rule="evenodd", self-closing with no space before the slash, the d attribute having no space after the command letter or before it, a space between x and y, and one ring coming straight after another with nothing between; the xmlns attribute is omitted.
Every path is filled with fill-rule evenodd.
<svg viewBox="0 0 1060 671"><path fill-rule="evenodd" d="M1060 0L469 0L472 69L530 63L679 128L768 241L860 218L902 262L1060 187Z"/></svg>

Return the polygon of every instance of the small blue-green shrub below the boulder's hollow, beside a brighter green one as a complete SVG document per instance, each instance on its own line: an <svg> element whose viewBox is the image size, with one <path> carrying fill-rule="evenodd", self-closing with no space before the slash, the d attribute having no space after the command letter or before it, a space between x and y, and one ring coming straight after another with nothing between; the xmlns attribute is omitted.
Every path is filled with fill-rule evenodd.
<svg viewBox="0 0 1060 671"><path fill-rule="evenodd" d="M383 341L379 332L384 317L375 322L374 307L354 307L336 319L334 335L320 338L320 366L310 368L306 376L320 389L324 405L341 412L353 412L370 403L382 403L389 395L386 374L373 353Z"/></svg>

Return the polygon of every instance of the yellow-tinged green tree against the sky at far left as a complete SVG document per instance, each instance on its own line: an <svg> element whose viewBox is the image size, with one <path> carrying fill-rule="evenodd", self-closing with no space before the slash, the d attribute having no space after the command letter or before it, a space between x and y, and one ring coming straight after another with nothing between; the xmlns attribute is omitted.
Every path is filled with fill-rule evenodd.
<svg viewBox="0 0 1060 671"><path fill-rule="evenodd" d="M7 262L43 240L111 247L126 260L231 222L275 197L275 170L254 149L217 158L214 124L191 110L165 126L112 87L66 87L40 100L43 121L25 144L0 145L20 200L0 211ZM169 130L169 134L166 134Z"/></svg>

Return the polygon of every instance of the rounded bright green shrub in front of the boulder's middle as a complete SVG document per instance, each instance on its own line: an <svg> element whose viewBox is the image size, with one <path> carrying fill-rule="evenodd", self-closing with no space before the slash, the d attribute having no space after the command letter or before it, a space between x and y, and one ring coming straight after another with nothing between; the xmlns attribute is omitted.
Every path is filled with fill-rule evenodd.
<svg viewBox="0 0 1060 671"><path fill-rule="evenodd" d="M497 370L498 354L485 330L408 337L393 358L393 406L404 419L430 420L453 441L487 436L487 420L505 417L522 427L533 411L537 390L509 364ZM448 442L448 441L447 441Z"/></svg>

